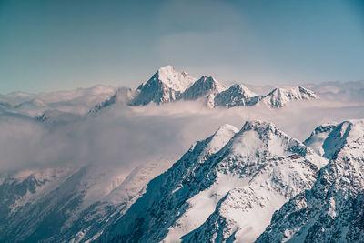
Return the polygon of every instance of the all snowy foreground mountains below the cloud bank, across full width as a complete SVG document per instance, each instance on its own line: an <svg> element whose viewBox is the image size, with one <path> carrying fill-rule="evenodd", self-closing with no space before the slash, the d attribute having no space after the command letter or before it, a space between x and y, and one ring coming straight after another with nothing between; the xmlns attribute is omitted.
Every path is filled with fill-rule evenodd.
<svg viewBox="0 0 364 243"><path fill-rule="evenodd" d="M363 139L363 120L303 143L252 120L220 127L159 176L140 167L117 182L95 165L3 175L0 241L359 242Z"/></svg>

